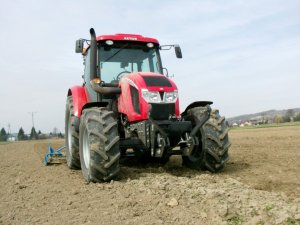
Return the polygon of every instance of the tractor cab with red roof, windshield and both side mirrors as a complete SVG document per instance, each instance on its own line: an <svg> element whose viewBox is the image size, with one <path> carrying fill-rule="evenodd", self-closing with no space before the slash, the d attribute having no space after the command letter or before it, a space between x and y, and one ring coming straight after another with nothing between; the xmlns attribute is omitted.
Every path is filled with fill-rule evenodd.
<svg viewBox="0 0 300 225"><path fill-rule="evenodd" d="M115 83L125 74L133 72L163 74L159 50L173 47L160 46L154 38L135 34L102 35L98 36L96 41L97 77L101 77L104 83ZM75 51L86 57L86 67L90 67L90 45L85 49L85 42L88 41L77 40ZM180 47L177 45L174 47L176 56L181 58Z"/></svg>

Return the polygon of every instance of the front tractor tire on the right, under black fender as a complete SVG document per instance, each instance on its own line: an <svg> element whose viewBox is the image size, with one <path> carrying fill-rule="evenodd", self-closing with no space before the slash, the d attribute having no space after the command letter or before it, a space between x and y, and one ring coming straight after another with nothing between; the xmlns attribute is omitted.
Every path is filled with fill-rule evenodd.
<svg viewBox="0 0 300 225"><path fill-rule="evenodd" d="M188 110L185 120L192 122L195 127L204 117L206 107L195 107ZM192 169L209 170L218 172L224 168L228 161L228 125L219 110L212 110L209 119L197 132L199 145L195 147L190 156L183 156L183 164Z"/></svg>

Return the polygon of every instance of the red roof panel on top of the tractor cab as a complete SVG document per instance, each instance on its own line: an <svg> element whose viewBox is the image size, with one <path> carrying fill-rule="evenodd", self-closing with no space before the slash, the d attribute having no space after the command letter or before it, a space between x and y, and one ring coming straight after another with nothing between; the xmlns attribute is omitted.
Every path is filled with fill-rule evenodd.
<svg viewBox="0 0 300 225"><path fill-rule="evenodd" d="M144 37L139 34L115 34L115 35L101 35L96 38L97 41L113 40L113 41L139 41L152 42L159 44L155 38Z"/></svg>

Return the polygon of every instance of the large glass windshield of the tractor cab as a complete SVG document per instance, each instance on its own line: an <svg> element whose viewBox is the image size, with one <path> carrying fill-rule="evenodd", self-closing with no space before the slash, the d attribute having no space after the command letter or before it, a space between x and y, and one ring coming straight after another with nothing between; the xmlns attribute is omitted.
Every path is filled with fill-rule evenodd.
<svg viewBox="0 0 300 225"><path fill-rule="evenodd" d="M131 72L162 74L158 49L148 48L146 43L120 43L99 48L101 80L106 83L119 80Z"/></svg>

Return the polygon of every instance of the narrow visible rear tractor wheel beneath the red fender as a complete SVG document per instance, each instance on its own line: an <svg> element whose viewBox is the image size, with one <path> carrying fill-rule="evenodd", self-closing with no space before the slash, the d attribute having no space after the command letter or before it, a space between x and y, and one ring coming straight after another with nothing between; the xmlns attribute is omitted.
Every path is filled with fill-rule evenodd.
<svg viewBox="0 0 300 225"><path fill-rule="evenodd" d="M79 169L79 133L75 129L75 116L72 96L68 96L66 103L65 145L68 167L70 169Z"/></svg>

